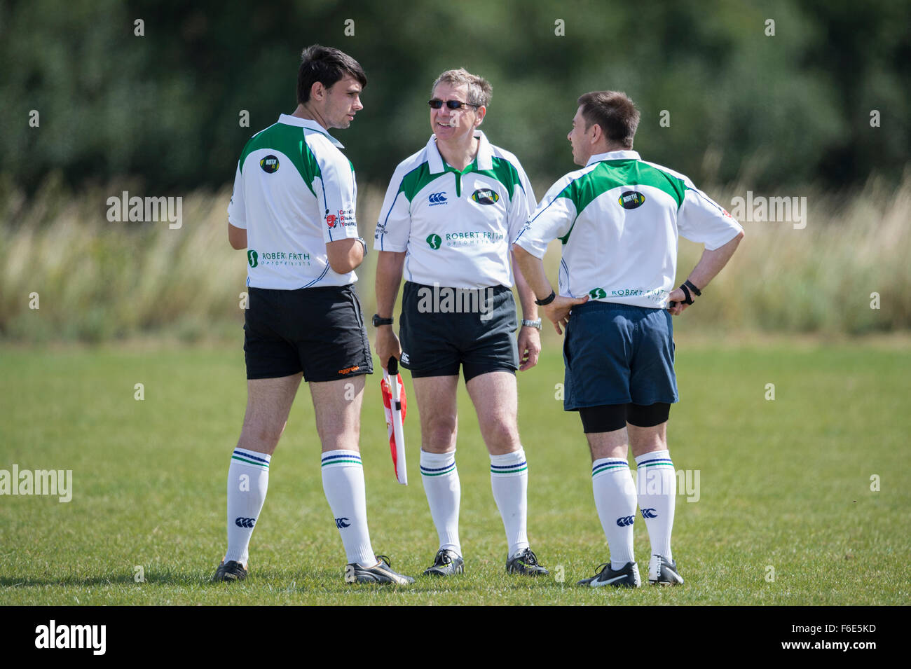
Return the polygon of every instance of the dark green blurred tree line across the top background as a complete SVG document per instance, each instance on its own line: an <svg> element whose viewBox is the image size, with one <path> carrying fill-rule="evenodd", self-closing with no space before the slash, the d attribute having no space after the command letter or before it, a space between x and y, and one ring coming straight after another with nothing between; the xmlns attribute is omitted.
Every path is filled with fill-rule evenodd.
<svg viewBox="0 0 911 669"><path fill-rule="evenodd" d="M576 97L614 88L640 106L643 157L697 182L897 182L908 25L911 4L888 0L5 2L0 196L49 174L162 194L230 183L247 138L295 106L312 43L366 70L365 108L337 135L376 184L429 137L429 86L454 66L492 82L484 129L536 179L573 167Z"/></svg>

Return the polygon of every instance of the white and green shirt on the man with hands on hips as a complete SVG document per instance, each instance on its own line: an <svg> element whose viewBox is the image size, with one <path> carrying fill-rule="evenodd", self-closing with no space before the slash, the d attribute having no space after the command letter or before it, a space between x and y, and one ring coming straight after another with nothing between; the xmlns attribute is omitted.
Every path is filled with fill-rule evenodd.
<svg viewBox="0 0 911 669"><path fill-rule="evenodd" d="M678 234L713 250L742 229L688 177L611 151L554 184L514 243L544 258L549 242L563 242L564 297L665 309Z"/></svg>

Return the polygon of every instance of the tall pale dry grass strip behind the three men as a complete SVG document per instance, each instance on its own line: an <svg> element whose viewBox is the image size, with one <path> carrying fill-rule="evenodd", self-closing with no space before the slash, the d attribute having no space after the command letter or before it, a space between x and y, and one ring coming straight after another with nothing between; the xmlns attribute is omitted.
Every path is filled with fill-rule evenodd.
<svg viewBox="0 0 911 669"><path fill-rule="evenodd" d="M708 192L730 208L748 188ZM230 338L243 318L246 278L244 254L227 243L230 191L186 195L182 225L170 229L168 222L108 222L106 199L125 189L142 192L124 185L73 196L49 182L30 201L0 194L0 339ZM384 186L363 185L360 193L361 234L372 238ZM898 188L874 178L852 193L778 195L807 198L806 227L745 221L747 237L700 300L693 325L824 334L911 328L911 172ZM700 252L681 239L681 280ZM555 243L546 258L553 281L558 258ZM367 313L375 259L370 254L358 270ZM33 293L39 309L30 309ZM873 293L879 309L871 309Z"/></svg>

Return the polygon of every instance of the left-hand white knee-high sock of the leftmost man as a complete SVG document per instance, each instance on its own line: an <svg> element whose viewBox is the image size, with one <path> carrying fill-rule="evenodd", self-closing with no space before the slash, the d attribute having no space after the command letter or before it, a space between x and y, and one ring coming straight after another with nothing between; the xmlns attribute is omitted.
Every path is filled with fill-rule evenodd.
<svg viewBox="0 0 911 669"><path fill-rule="evenodd" d="M271 455L234 449L228 467L228 551L225 562L243 565L250 557L250 537L269 488Z"/></svg>

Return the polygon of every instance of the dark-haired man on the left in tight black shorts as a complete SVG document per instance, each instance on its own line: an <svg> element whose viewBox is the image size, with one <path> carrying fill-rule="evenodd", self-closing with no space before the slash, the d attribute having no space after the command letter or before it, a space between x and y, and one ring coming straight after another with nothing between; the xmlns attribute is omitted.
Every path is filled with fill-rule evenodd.
<svg viewBox="0 0 911 669"><path fill-rule="evenodd" d="M329 135L363 109L367 78L338 49L304 49L298 106L254 135L241 153L228 238L247 250L243 350L247 411L228 470L228 549L215 581L247 576L251 533L266 498L271 454L301 379L310 384L322 442L322 489L342 535L353 583L411 583L374 555L358 449L364 374L373 372L354 269L357 234L351 163Z"/></svg>

